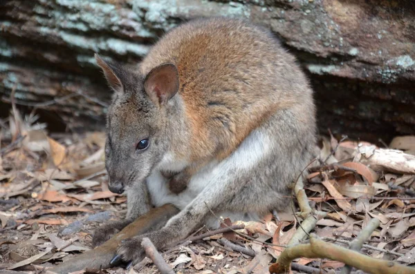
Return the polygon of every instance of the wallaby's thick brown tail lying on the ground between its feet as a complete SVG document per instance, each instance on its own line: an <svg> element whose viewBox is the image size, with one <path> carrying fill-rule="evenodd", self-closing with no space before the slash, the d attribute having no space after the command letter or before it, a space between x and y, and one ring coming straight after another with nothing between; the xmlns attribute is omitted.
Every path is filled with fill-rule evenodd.
<svg viewBox="0 0 415 274"><path fill-rule="evenodd" d="M116 255L118 245L122 239L160 229L177 213L178 208L172 204L165 204L164 206L151 209L148 213L138 217L138 219L126 226L107 242L104 242L101 246L73 257L71 260L63 262L51 268L49 271L66 274L81 271L84 268L108 268L110 266L109 262Z"/></svg>

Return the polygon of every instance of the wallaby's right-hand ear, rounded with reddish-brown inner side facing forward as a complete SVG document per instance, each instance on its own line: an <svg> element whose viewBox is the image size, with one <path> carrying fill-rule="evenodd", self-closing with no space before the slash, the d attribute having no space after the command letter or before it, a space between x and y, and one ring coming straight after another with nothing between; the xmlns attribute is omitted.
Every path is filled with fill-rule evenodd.
<svg viewBox="0 0 415 274"><path fill-rule="evenodd" d="M144 90L154 104L166 104L178 91L178 71L172 63L153 68L144 80Z"/></svg>

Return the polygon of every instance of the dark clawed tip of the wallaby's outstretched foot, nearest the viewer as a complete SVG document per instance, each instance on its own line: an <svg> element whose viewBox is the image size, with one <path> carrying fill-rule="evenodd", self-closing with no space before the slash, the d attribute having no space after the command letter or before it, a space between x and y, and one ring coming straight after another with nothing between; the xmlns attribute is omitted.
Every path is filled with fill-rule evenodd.
<svg viewBox="0 0 415 274"><path fill-rule="evenodd" d="M144 248L141 246L142 238L145 235L133 237L130 239L123 239L121 241L120 247L118 247L117 255L114 257L113 261L122 260L127 263L127 268L141 262L145 257ZM113 264L113 262L111 262Z"/></svg>

